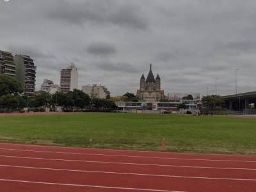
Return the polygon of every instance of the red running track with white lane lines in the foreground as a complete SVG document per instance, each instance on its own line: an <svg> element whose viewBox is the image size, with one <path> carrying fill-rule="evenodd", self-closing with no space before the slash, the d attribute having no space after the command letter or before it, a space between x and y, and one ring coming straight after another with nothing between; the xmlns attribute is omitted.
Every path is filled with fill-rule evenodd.
<svg viewBox="0 0 256 192"><path fill-rule="evenodd" d="M256 191L256 156L0 143L0 191Z"/></svg>

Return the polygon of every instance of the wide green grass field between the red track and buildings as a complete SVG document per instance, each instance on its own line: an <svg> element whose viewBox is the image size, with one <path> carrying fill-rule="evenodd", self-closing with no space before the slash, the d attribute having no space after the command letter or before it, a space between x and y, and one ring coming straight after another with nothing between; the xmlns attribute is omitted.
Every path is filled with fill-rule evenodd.
<svg viewBox="0 0 256 192"><path fill-rule="evenodd" d="M136 113L0 116L0 141L74 147L256 154L256 119Z"/></svg>

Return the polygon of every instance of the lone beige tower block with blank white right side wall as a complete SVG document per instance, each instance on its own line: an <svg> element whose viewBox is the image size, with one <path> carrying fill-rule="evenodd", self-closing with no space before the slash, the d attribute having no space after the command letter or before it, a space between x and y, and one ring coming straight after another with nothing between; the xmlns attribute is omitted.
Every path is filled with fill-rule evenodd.
<svg viewBox="0 0 256 192"><path fill-rule="evenodd" d="M62 93L70 92L78 87L78 74L74 63L71 63L68 68L61 69L60 72L60 87Z"/></svg>

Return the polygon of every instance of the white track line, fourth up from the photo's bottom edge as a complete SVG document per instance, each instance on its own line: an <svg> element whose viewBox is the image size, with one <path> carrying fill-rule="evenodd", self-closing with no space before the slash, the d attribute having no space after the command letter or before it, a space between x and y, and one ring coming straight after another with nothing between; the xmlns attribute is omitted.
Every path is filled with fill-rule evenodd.
<svg viewBox="0 0 256 192"><path fill-rule="evenodd" d="M109 154L90 154L90 153L76 153L76 152L57 152L48 150L24 150L17 148L0 148L0 150L13 150L21 152L41 152L53 154L73 154L73 155L86 155L86 156L108 156L108 157L136 157L147 159L172 159L172 160L185 160L185 161L218 161L218 162L243 162L243 163L256 163L256 161L243 161L243 160L225 160L225 159L188 159L188 158L175 158L175 157L152 157L152 156L125 156L125 155L109 155Z"/></svg>

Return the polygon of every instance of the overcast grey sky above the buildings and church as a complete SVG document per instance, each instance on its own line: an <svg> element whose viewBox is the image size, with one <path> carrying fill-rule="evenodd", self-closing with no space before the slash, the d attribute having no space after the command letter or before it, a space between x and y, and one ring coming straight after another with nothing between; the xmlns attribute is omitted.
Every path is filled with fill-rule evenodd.
<svg viewBox="0 0 256 192"><path fill-rule="evenodd" d="M136 92L149 64L168 92L256 90L255 0L0 0L0 50L29 54L60 83L74 62L79 88Z"/></svg>

